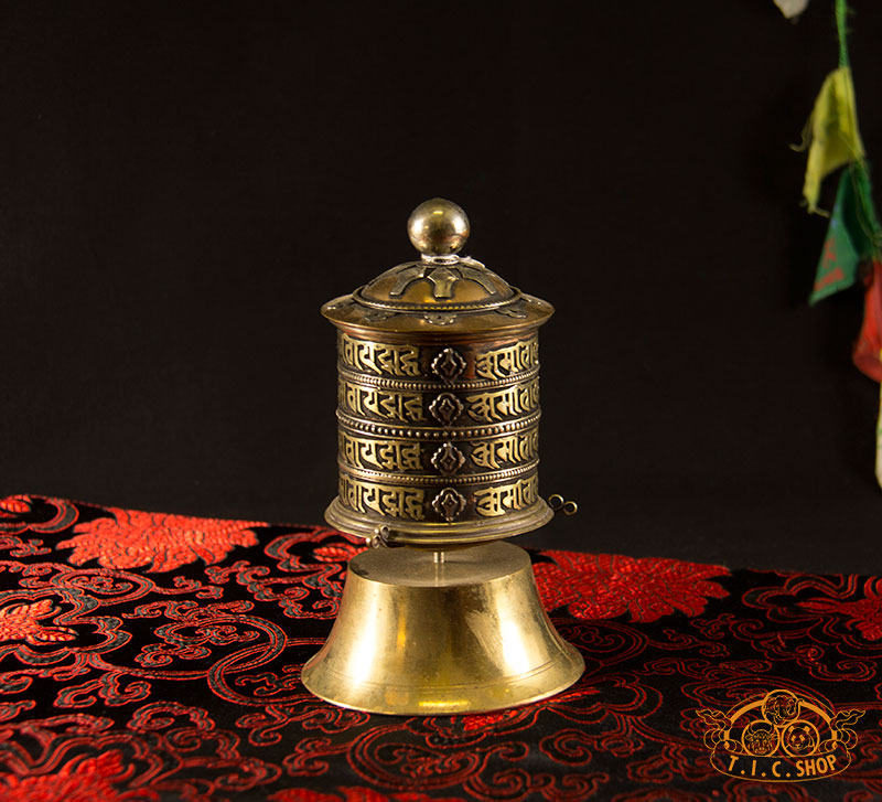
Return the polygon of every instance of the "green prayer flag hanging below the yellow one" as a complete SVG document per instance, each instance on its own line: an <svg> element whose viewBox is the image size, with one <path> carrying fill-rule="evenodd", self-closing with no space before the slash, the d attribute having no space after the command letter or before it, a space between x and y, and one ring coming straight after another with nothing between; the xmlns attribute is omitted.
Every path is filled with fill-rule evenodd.
<svg viewBox="0 0 882 802"><path fill-rule="evenodd" d="M851 287L861 263L879 254L879 224L863 163L850 164L839 178L836 203L827 227L809 303Z"/></svg>

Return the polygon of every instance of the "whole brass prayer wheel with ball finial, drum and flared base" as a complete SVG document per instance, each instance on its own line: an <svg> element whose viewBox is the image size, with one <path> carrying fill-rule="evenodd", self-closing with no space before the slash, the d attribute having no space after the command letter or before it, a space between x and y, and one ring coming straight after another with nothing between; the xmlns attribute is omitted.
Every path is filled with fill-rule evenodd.
<svg viewBox="0 0 882 802"><path fill-rule="evenodd" d="M349 564L303 682L378 713L525 704L583 670L526 553L487 543L553 515L538 488L537 339L553 309L459 256L469 220L456 204L419 205L408 234L417 260L322 307L338 330L338 494L325 517L383 547Z"/></svg>

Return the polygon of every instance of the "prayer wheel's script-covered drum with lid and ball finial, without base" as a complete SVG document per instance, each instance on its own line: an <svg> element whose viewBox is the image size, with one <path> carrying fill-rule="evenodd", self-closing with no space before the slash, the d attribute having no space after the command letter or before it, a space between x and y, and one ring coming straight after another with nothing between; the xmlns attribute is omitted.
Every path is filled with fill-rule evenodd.
<svg viewBox="0 0 882 802"><path fill-rule="evenodd" d="M421 250L337 298L340 492L344 532L426 546L529 532L539 496L538 328L546 301L456 252L459 206L435 199L409 222Z"/></svg>

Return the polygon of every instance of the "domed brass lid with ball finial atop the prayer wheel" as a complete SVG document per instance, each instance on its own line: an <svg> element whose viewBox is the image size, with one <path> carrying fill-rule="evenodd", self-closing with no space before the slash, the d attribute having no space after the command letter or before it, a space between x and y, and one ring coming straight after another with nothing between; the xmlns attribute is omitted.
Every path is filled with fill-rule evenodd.
<svg viewBox="0 0 882 802"><path fill-rule="evenodd" d="M553 312L550 303L520 292L476 259L459 256L469 218L455 203L441 197L421 203L407 228L420 258L325 303L325 318L346 329L449 334L533 329Z"/></svg>

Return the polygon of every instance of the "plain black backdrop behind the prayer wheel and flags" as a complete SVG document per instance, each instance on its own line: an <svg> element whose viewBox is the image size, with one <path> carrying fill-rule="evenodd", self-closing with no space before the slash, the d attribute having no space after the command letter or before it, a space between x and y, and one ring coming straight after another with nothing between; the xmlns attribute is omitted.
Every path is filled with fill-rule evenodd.
<svg viewBox="0 0 882 802"><path fill-rule="evenodd" d="M581 512L526 542L882 570L861 295L806 304L788 148L836 58L825 0L3 3L0 492L320 522L319 306L442 195L557 308L541 481Z"/></svg>

